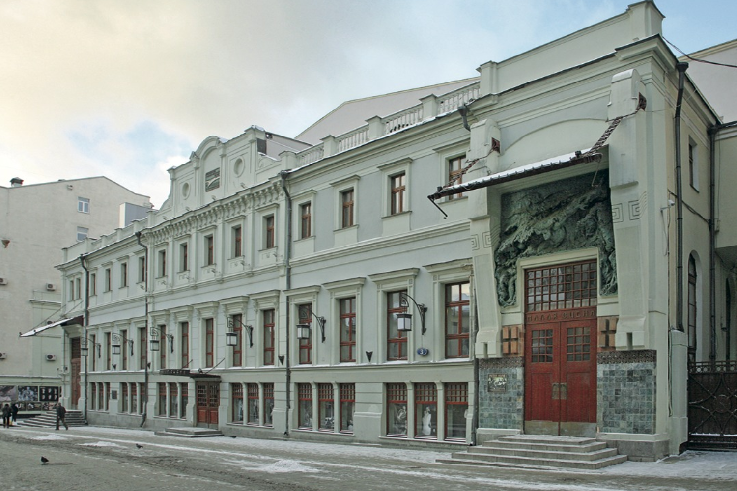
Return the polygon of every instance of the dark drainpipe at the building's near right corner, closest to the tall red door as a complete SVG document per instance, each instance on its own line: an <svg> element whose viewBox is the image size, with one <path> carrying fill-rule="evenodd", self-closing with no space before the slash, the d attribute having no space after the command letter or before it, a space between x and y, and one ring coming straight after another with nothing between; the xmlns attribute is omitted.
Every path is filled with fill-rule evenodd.
<svg viewBox="0 0 737 491"><path fill-rule="evenodd" d="M678 99L674 116L675 146L676 146L676 323L678 331L685 331L683 327L683 180L681 176L681 105L683 102L683 82L688 63L676 64L678 71Z"/></svg>

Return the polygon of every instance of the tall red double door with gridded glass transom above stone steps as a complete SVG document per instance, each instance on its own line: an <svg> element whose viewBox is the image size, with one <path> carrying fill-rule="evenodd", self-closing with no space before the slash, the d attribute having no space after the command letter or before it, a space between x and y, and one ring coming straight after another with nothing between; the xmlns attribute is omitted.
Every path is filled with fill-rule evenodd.
<svg viewBox="0 0 737 491"><path fill-rule="evenodd" d="M525 433L596 434L596 262L525 270Z"/></svg>

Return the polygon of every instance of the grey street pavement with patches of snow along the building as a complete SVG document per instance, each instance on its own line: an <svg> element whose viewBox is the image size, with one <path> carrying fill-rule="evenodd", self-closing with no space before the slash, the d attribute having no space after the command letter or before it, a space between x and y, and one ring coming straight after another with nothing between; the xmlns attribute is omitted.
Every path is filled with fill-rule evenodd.
<svg viewBox="0 0 737 491"><path fill-rule="evenodd" d="M736 491L737 453L687 452L598 471L437 464L447 451L296 439L156 436L94 426L0 431L8 490ZM43 464L41 456L49 462Z"/></svg>

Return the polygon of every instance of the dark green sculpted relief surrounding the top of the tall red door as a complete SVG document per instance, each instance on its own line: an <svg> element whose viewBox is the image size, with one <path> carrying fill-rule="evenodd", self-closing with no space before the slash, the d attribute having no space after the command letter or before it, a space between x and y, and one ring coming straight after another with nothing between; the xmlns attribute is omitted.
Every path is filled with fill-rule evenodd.
<svg viewBox="0 0 737 491"><path fill-rule="evenodd" d="M600 293L617 293L609 174L598 172L543 184L502 197L495 250L499 305L517 301L517 259L597 247Z"/></svg>

